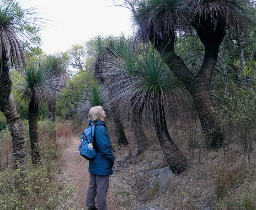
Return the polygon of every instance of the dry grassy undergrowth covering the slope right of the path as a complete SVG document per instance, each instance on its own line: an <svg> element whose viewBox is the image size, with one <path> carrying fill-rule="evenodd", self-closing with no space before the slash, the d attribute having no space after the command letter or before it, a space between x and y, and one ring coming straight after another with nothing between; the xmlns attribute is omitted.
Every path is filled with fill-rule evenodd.
<svg viewBox="0 0 256 210"><path fill-rule="evenodd" d="M192 122L191 122L192 123ZM196 123L199 123L198 121ZM164 194L150 189L152 170L166 167L158 140L152 129L146 130L147 151L136 156L136 142L126 130L130 144L117 146L115 174L111 177L119 209L137 210L139 206L160 205L166 210L254 210L256 209L256 152L255 143L250 153L251 162L238 142L231 142L219 151L204 148L200 126L188 131L191 125L176 122L169 132L190 166L179 176L171 178ZM191 136L192 135L192 136Z"/></svg>

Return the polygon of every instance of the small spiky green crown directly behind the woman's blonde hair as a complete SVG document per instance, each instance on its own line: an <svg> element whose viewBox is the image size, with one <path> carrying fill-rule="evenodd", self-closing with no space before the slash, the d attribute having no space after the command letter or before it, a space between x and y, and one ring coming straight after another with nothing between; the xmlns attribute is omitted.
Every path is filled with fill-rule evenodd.
<svg viewBox="0 0 256 210"><path fill-rule="evenodd" d="M90 84L83 90L76 107L80 118L88 118L88 113L92 106L102 106L106 113L109 112L109 96L105 87L98 84Z"/></svg>

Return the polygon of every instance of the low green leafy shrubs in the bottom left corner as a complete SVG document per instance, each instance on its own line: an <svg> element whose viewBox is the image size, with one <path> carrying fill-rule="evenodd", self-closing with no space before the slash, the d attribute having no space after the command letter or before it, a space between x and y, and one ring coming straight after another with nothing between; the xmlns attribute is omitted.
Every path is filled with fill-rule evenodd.
<svg viewBox="0 0 256 210"><path fill-rule="evenodd" d="M60 184L47 178L47 171L8 169L0 174L0 209L55 209L74 192L75 187L61 190Z"/></svg>

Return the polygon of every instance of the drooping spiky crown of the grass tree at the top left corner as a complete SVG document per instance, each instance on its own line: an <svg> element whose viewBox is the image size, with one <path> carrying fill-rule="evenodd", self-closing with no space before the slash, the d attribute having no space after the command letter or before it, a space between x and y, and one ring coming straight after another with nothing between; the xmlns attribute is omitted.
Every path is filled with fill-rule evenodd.
<svg viewBox="0 0 256 210"><path fill-rule="evenodd" d="M26 25L35 24L37 19L33 17L35 14L34 9L21 9L16 0L1 1L0 62L2 65L24 67L25 57L21 39L27 39Z"/></svg>

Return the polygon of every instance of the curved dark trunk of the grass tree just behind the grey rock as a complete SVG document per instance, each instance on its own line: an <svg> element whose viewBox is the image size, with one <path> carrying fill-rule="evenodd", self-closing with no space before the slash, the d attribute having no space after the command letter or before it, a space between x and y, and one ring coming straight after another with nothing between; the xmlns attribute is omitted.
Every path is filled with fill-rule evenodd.
<svg viewBox="0 0 256 210"><path fill-rule="evenodd" d="M181 153L180 149L176 146L176 144L172 141L165 121L164 107L162 105L159 105L159 107L160 119L158 119L158 117L155 117L154 121L156 135L160 142L160 147L162 148L167 164L174 173L179 174L186 170L188 160Z"/></svg>

